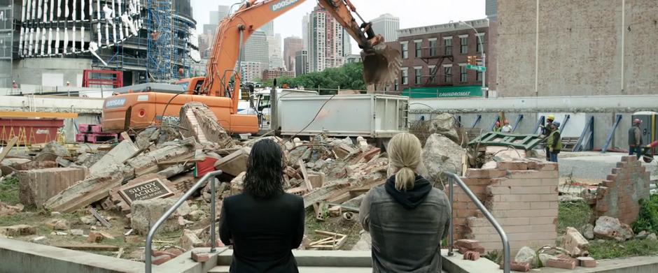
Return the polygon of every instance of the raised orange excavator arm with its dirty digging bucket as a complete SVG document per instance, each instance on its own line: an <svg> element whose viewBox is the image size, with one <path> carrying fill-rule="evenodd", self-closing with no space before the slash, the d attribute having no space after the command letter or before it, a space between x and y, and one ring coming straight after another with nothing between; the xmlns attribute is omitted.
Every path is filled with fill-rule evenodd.
<svg viewBox="0 0 658 273"><path fill-rule="evenodd" d="M209 96L227 96L227 92L237 94L241 80L241 48L246 40L255 30L304 1L306 0L249 0L230 17L225 18L216 29L214 46L200 93ZM327 10L363 49L361 56L366 84L393 82L402 64L400 53L386 46L384 38L374 34L370 23L356 22L352 15L356 13L353 4L349 0L318 0L318 4ZM235 64L238 69L235 69ZM232 95L231 97L233 110L237 110L238 98Z"/></svg>

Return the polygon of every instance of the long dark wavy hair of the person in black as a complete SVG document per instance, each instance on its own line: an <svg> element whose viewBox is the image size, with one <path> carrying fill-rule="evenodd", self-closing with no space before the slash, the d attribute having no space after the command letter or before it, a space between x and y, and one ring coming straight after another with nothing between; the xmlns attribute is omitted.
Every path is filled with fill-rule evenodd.
<svg viewBox="0 0 658 273"><path fill-rule="evenodd" d="M283 163L281 147L265 139L255 142L247 161L244 192L258 198L270 198L283 193Z"/></svg>

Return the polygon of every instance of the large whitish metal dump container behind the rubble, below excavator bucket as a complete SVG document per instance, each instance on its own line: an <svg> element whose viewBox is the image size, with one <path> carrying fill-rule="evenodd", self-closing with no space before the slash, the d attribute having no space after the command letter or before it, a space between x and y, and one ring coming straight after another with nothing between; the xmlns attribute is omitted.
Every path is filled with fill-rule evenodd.
<svg viewBox="0 0 658 273"><path fill-rule="evenodd" d="M391 138L408 131L407 96L378 94L285 96L279 99L282 135Z"/></svg>

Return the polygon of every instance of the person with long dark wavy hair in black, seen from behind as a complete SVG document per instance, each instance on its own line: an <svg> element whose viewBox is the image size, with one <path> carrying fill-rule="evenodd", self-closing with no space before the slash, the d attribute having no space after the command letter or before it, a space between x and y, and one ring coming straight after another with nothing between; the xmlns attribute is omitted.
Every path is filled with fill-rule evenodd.
<svg viewBox="0 0 658 273"><path fill-rule="evenodd" d="M291 250L304 236L304 200L283 192L282 157L276 142L256 142L244 193L224 199L219 236L234 246L230 272L299 272Z"/></svg>

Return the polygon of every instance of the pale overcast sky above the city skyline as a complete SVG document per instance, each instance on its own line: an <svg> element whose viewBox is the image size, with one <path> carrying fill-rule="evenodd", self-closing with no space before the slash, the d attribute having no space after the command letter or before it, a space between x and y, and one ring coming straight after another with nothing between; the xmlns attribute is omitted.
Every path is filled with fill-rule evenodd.
<svg viewBox="0 0 658 273"><path fill-rule="evenodd" d="M197 20L197 33L203 31L203 24L208 24L211 10L217 10L219 5L231 6L238 2L238 0L192 0L194 17ZM486 17L484 0L351 0L351 2L364 20L372 20L384 13L400 17L401 29ZM308 0L276 18L274 32L281 34L282 38L302 37L302 17L310 13L316 5L317 1ZM352 41L352 52L358 53L354 41Z"/></svg>

